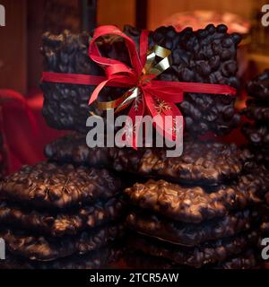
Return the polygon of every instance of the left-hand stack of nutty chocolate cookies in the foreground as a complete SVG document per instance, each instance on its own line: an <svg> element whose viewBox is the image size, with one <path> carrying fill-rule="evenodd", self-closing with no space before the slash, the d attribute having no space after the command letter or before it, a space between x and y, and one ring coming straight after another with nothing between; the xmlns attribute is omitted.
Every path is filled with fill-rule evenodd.
<svg viewBox="0 0 269 287"><path fill-rule="evenodd" d="M1 182L1 268L100 268L121 252L126 209L108 170L41 162Z"/></svg>

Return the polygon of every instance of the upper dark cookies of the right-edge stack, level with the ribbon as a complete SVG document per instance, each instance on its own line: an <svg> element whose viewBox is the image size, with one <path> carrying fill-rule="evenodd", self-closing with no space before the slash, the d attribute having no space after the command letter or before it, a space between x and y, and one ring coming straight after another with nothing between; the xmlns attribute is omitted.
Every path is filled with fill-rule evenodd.
<svg viewBox="0 0 269 287"><path fill-rule="evenodd" d="M269 70L248 83L247 92L251 99L247 100L243 113L254 123L245 124L242 132L256 161L269 167Z"/></svg>

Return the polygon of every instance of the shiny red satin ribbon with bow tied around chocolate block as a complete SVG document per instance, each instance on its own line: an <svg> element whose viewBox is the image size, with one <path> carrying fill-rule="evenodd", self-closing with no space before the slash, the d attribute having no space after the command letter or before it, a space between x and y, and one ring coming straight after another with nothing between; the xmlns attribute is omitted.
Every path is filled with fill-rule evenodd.
<svg viewBox="0 0 269 287"><path fill-rule="evenodd" d="M101 57L100 51L96 44L96 40L106 35L117 35L126 40L126 48L131 60L131 67L108 57ZM183 82L167 82L153 80L154 75L150 76L151 81L143 83L141 81L143 67L146 63L146 56L148 50L148 31L143 30L140 37L139 55L135 48L134 40L126 36L116 26L100 26L94 31L93 38L91 39L89 47L89 57L99 64L105 71L106 76L96 76L88 74L59 74L44 72L42 81L52 83L74 83L74 84L86 84L97 85L92 92L89 105L98 99L100 91L105 86L110 87L138 87L142 94L142 99L138 103L133 102L128 116L132 118L135 123L136 116L144 116L150 114L152 117L161 116L160 120L156 122L156 128L169 139L175 139L175 131L172 128L164 128L164 118L171 116L175 119L177 116L182 116L180 110L176 106L176 103L182 102L184 99L184 92L195 93L213 93L213 94L230 94L235 95L236 90L229 85L213 84L213 83L183 83ZM169 109L163 109L160 111L160 102L167 104ZM136 131L137 128L136 126ZM133 133L133 147L136 147L136 136Z"/></svg>

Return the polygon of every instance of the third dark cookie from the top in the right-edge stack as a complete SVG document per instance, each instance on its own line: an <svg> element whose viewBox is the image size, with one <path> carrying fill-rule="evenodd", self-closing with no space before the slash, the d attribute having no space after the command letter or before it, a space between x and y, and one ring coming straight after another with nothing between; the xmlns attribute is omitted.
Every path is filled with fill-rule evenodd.
<svg viewBox="0 0 269 287"><path fill-rule="evenodd" d="M268 125L246 123L242 126L242 133L246 136L249 143L256 145L258 149L269 149Z"/></svg>

